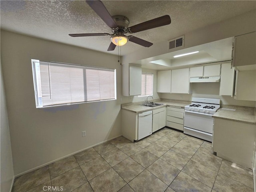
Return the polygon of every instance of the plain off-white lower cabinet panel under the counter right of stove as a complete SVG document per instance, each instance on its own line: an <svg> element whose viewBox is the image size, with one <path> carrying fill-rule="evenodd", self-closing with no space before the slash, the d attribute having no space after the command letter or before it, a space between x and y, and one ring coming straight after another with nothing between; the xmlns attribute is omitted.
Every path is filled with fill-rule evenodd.
<svg viewBox="0 0 256 192"><path fill-rule="evenodd" d="M255 125L214 118L213 151L217 156L252 169Z"/></svg>

